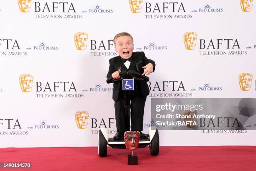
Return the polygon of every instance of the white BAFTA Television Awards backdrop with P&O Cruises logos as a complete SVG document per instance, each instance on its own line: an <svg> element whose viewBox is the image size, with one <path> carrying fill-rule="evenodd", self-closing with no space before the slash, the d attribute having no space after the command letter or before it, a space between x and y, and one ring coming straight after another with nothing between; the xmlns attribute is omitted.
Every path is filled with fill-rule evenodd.
<svg viewBox="0 0 256 171"><path fill-rule="evenodd" d="M255 145L253 3L0 1L0 148L97 146L100 127L113 137L113 85L106 75L109 59L118 56L113 37L120 32L130 33L134 51L156 62L149 75L144 133L159 126L153 111L168 117L173 104L198 102L200 110L204 101L210 111L227 112L223 104L228 103L232 116L198 117L205 119L198 120L201 125L187 129L160 125L160 145ZM189 115L186 111L183 115ZM228 128L241 123L242 130Z"/></svg>

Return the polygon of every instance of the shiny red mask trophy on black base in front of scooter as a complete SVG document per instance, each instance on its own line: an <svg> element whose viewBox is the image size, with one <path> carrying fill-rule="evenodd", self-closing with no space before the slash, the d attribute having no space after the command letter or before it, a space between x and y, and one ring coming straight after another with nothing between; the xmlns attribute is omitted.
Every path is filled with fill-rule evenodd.
<svg viewBox="0 0 256 171"><path fill-rule="evenodd" d="M132 154L128 155L128 165L138 164L138 156L133 155L133 151L138 148L140 135L139 131L126 131L123 135L126 149L132 151Z"/></svg>

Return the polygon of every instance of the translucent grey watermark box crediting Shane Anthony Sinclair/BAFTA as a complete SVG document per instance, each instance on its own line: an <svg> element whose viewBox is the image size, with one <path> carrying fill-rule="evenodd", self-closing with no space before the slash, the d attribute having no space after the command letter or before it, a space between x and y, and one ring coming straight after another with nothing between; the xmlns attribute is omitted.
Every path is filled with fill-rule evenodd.
<svg viewBox="0 0 256 171"><path fill-rule="evenodd" d="M254 130L256 99L151 99L159 130Z"/></svg>

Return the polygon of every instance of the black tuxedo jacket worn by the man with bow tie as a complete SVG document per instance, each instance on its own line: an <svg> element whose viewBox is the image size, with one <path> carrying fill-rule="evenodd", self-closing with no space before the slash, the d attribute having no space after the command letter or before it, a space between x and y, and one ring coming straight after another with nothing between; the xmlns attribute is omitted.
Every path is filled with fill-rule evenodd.
<svg viewBox="0 0 256 171"><path fill-rule="evenodd" d="M155 66L156 66L155 62L150 59L147 59L144 52L133 52L132 56L133 56L133 60L135 62L136 68L138 70L138 73L143 74L144 69L142 68L142 66L145 66L149 63L153 64L154 66L153 72L155 71ZM113 74L113 72L118 71L118 69L121 70L121 57L115 56L114 58L111 58L109 60L109 69L108 69L107 78L112 77L111 75ZM112 98L114 101L117 101L119 96L119 91L120 91L120 82L113 83L113 87L114 89L113 89ZM141 81L141 93L143 94L143 96L147 96L149 94L148 84L144 81Z"/></svg>

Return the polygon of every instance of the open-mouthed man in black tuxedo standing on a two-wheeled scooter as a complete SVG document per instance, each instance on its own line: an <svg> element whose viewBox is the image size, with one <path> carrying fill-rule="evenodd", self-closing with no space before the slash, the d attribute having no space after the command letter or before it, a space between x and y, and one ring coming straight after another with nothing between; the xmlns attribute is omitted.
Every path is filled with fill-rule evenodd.
<svg viewBox="0 0 256 171"><path fill-rule="evenodd" d="M119 56L109 60L109 70L107 78L119 79L119 73L123 70L133 70L142 75L149 75L155 70L155 62L147 59L144 52L133 52L133 37L129 33L118 33L114 37L115 50ZM128 131L125 116L125 91L122 89L120 82L113 83L113 100L115 101L115 119L117 133L115 140L123 139L123 134ZM145 81L135 81L134 90L130 93L131 100L131 130L138 130L141 138L148 138L148 134L144 134L143 115L146 97L149 94L148 85ZM129 123L129 121L128 121Z"/></svg>

